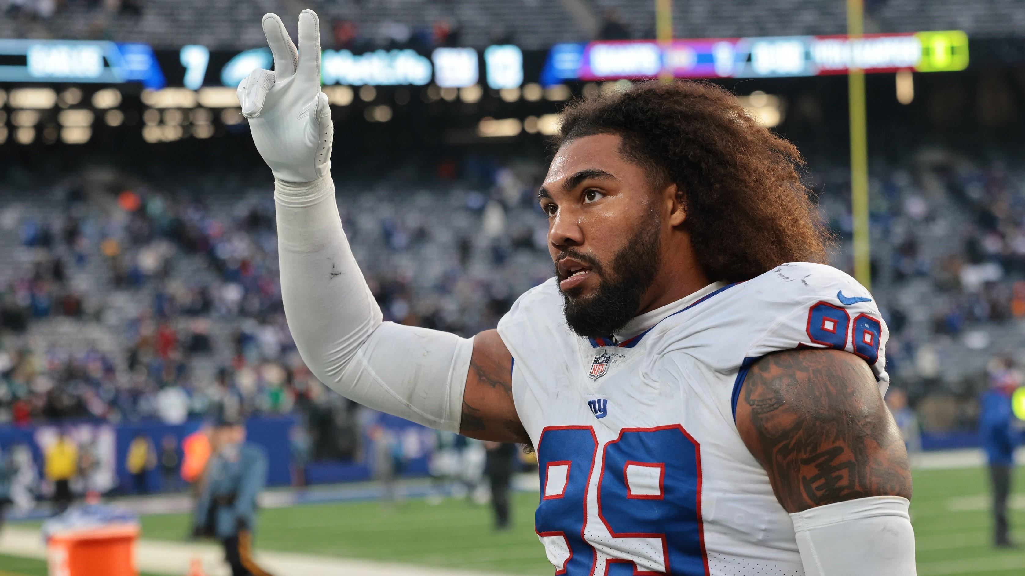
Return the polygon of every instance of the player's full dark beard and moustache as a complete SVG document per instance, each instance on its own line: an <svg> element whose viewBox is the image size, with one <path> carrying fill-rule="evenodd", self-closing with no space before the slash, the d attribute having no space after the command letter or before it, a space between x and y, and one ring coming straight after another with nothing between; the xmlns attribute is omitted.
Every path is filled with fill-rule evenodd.
<svg viewBox="0 0 1025 576"><path fill-rule="evenodd" d="M564 257L572 256L589 265L599 278L598 290L589 296L573 296L577 290L563 292L566 322L574 332L585 337L607 337L637 316L642 296L658 274L660 236L658 218L645 218L641 230L613 256L614 277L587 254L572 249L563 253ZM556 276L563 280L558 268Z"/></svg>

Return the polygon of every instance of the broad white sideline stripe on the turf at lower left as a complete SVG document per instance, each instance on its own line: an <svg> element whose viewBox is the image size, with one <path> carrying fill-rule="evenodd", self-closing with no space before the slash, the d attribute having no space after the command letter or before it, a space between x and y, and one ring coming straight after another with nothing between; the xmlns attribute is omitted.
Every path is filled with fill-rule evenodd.
<svg viewBox="0 0 1025 576"><path fill-rule="evenodd" d="M35 530L6 527L0 532L0 553L45 560L46 546ZM210 543L141 539L135 548L135 559L139 571L153 574L181 576L189 572L194 559L200 560L207 576L230 574L223 551L216 544ZM257 551L256 561L271 573L287 576L499 576L448 568L418 568L278 551Z"/></svg>

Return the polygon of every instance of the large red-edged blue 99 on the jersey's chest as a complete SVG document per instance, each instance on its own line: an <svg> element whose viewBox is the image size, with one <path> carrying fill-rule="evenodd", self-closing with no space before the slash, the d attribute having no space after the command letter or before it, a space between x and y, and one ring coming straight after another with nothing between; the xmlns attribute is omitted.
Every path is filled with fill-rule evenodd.
<svg viewBox="0 0 1025 576"><path fill-rule="evenodd" d="M601 520L616 551L606 576L708 574L701 528L701 455L680 425L624 428L606 444L601 470L593 470L598 442L590 426L545 428L538 442L541 503L535 529L556 536L566 550L556 574L591 576L597 554L584 526L588 513ZM598 475L597 509L587 490ZM550 558L550 557L549 557Z"/></svg>

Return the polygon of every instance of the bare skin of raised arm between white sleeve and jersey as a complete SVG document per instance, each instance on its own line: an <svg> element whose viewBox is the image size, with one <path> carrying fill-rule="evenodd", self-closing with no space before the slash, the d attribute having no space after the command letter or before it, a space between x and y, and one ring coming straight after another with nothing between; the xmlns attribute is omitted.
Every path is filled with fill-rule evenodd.
<svg viewBox="0 0 1025 576"><path fill-rule="evenodd" d="M480 440L530 443L512 404L512 356L497 330L474 338L459 433Z"/></svg>

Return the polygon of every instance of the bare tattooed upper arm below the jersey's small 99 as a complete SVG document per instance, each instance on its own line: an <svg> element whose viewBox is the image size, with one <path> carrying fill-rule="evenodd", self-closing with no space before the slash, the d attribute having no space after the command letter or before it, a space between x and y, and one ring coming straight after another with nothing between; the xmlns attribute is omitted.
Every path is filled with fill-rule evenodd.
<svg viewBox="0 0 1025 576"><path fill-rule="evenodd" d="M763 358L744 379L737 429L788 512L867 496L911 497L900 431L854 355L802 349Z"/></svg>

